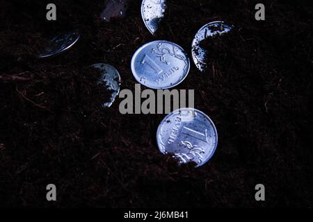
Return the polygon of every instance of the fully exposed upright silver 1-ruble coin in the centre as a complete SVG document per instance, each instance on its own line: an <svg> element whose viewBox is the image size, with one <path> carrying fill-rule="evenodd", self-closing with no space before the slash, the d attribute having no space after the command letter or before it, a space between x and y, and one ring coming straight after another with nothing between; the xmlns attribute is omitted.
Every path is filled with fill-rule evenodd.
<svg viewBox="0 0 313 222"><path fill-rule="evenodd" d="M182 83L190 61L184 49L168 41L154 41L141 46L131 59L136 80L152 89L168 89Z"/></svg>

